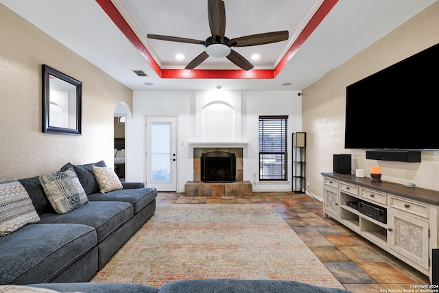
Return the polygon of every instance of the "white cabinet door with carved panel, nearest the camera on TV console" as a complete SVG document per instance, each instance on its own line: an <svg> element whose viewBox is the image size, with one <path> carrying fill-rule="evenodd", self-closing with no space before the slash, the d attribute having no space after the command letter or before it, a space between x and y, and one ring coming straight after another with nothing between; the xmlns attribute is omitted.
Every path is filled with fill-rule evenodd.
<svg viewBox="0 0 439 293"><path fill-rule="evenodd" d="M388 245L419 266L429 268L429 223L388 210Z"/></svg>

